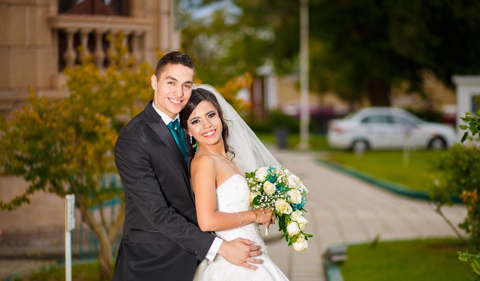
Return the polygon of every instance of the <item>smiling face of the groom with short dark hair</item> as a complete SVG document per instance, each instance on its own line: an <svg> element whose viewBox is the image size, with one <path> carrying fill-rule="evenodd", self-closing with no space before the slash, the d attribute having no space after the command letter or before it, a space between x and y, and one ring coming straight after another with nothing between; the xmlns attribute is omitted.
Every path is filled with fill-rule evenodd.
<svg viewBox="0 0 480 281"><path fill-rule="evenodd" d="M155 107L174 119L190 98L194 70L181 64L167 64L160 77L152 75L151 80Z"/></svg>

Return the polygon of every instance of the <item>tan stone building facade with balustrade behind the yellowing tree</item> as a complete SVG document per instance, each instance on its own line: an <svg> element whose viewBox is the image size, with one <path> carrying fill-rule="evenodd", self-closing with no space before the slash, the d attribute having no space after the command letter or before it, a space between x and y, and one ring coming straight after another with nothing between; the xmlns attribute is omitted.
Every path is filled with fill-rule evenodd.
<svg viewBox="0 0 480 281"><path fill-rule="evenodd" d="M107 65L108 34L122 31L129 56L154 67L158 52L180 48L178 5L176 0L0 0L0 114L19 108L29 87L42 97L67 97L62 69L86 54ZM9 201L26 188L20 178L2 177L0 200ZM55 236L63 225L64 200L38 192L28 205L0 211L0 254L11 254L17 240Z"/></svg>

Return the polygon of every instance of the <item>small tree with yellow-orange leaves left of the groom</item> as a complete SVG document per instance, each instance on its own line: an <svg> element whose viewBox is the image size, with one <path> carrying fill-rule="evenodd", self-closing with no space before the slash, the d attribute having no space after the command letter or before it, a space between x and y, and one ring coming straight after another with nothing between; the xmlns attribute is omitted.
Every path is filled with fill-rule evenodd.
<svg viewBox="0 0 480 281"><path fill-rule="evenodd" d="M151 67L134 65L126 57L122 34L115 37L116 55L100 70L91 61L66 69L69 97L39 98L32 90L27 105L0 120L0 172L29 183L26 192L1 209L29 203L36 191L63 197L74 193L82 220L100 244L102 280L111 278L111 245L124 219L124 204L112 223L105 219L102 203L123 197L123 190L102 189L106 174L116 173L113 148L119 131L151 97ZM89 212L99 205L100 219Z"/></svg>

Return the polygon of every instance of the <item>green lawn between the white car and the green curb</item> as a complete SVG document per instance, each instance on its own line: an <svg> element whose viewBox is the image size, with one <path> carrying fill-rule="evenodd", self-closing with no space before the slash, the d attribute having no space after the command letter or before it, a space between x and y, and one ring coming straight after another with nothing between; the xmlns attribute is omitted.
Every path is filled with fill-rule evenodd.
<svg viewBox="0 0 480 281"><path fill-rule="evenodd" d="M426 191L431 181L428 174L435 171L435 163L440 159L441 151L415 150L410 152L409 162L403 163L403 152L367 151L356 155L349 151L331 151L325 159L352 168L373 177L400 183L416 191Z"/></svg>

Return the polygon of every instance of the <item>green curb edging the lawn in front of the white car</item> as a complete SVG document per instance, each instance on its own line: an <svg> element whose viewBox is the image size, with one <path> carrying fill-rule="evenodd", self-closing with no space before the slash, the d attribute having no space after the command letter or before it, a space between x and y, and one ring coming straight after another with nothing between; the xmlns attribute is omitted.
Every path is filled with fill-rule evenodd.
<svg viewBox="0 0 480 281"><path fill-rule="evenodd" d="M349 176L352 176L357 179L361 179L363 181L366 181L368 183L371 183L375 186L378 186L381 189L387 190L389 192L393 192L395 194L408 197L408 198L413 198L413 199L418 199L418 200L424 200L424 201L431 201L430 196L428 195L427 192L422 192L422 191L412 191L408 189L405 185L401 185L398 183L393 183L389 182L386 180L381 180L378 178L375 178L373 176L364 174L362 172L358 172L354 169L351 168L346 168L344 166L341 166L337 163L331 162L326 159L321 159L317 158L317 161L323 165L326 166L332 170L342 172L344 174L347 174ZM458 196L451 196L450 199L453 201L453 203L457 204L463 204L462 199L460 199Z"/></svg>

